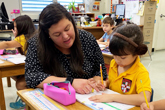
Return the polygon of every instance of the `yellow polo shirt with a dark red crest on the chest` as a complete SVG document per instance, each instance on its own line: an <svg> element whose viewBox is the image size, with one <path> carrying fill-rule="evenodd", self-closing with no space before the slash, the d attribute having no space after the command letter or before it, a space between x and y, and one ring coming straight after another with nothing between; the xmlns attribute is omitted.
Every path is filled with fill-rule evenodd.
<svg viewBox="0 0 165 110"><path fill-rule="evenodd" d="M139 94L142 92L140 79L145 91L151 92L150 78L147 69L137 57L135 63L127 71L118 75L117 63L113 59L109 68L109 89L121 94Z"/></svg>

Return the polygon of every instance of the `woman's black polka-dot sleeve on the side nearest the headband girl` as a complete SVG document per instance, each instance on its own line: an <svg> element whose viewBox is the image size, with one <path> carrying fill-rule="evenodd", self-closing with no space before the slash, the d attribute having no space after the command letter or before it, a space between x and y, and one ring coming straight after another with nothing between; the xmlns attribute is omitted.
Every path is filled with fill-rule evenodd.
<svg viewBox="0 0 165 110"><path fill-rule="evenodd" d="M103 72L103 79L105 80L107 78L107 72L106 67L104 65L104 59L102 56L102 52L100 50L100 47L95 39L95 37L84 30L81 30L82 37L81 42L83 43L83 51L85 53L85 57L90 59L93 64L94 71L92 72L92 77L94 76L100 76L100 64L102 64L102 72Z"/></svg>

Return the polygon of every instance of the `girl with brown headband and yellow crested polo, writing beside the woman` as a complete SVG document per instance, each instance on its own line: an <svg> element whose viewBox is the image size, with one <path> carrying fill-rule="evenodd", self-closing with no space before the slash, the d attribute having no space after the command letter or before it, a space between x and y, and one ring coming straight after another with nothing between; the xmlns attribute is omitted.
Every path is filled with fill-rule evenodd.
<svg viewBox="0 0 165 110"><path fill-rule="evenodd" d="M140 62L139 55L147 52L143 34L135 24L121 24L113 32L109 49L114 59L110 63L109 79L104 85L120 94L102 94L89 99L94 102L119 102L140 106L145 102L140 80L143 81L147 100L150 101L151 86L147 69Z"/></svg>

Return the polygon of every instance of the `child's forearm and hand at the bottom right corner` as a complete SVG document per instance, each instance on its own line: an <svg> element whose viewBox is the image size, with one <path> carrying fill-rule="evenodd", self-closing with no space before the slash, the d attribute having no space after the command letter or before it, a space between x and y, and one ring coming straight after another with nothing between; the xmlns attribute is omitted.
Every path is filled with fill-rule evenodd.
<svg viewBox="0 0 165 110"><path fill-rule="evenodd" d="M165 99L153 101L148 103L149 108L146 103L140 105L141 110L165 110Z"/></svg>

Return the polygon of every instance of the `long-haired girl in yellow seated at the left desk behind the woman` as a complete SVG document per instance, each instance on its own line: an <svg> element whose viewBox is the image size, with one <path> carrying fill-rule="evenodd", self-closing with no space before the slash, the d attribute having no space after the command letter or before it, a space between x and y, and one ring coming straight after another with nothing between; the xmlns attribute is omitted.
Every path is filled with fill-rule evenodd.
<svg viewBox="0 0 165 110"><path fill-rule="evenodd" d="M1 42L0 49L17 48L19 53L26 55L27 41L35 32L35 27L34 27L34 24L31 20L31 18L27 15L22 15L22 16L17 17L14 20L14 30L12 30L12 31L15 36L15 39L12 41ZM13 76L11 78L16 81L17 90L22 90L22 89L27 88L24 75ZM19 102L20 102L20 100L19 100ZM15 102L15 103L17 103L17 102ZM15 103L12 103L10 105L13 105L15 107L15 105L16 105ZM12 106L12 108L14 108L13 106ZM16 106L16 108L20 108L20 107Z"/></svg>

